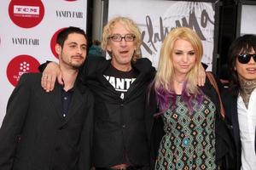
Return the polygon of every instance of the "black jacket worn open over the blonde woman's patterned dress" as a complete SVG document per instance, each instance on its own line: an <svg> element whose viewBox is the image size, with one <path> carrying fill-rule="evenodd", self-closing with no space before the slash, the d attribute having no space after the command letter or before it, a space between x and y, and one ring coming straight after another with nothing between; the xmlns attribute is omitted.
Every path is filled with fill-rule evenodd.
<svg viewBox="0 0 256 170"><path fill-rule="evenodd" d="M221 88L220 82L219 88ZM224 120L220 118L220 106L218 101L218 94L215 89L212 87L211 82L207 79L204 87L201 87L201 90L206 94L212 102L217 105L217 114L215 121L215 134L216 134L216 161L218 165L221 165L221 169L234 169L234 144L230 138L230 133L228 127ZM154 99L154 93L150 94L148 112L151 111L153 115L157 112L157 104ZM151 134L151 168L154 169L154 161L158 155L158 148L160 145L160 140L162 139L164 132L164 123L161 116L154 117L154 126Z"/></svg>

